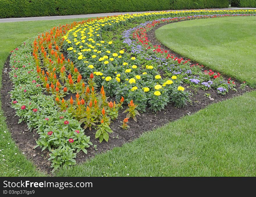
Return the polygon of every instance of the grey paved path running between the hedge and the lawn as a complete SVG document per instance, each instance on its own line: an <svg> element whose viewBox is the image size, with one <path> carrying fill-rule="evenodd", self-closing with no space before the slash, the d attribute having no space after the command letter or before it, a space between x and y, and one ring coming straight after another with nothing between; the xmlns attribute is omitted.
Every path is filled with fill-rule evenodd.
<svg viewBox="0 0 256 197"><path fill-rule="evenodd" d="M219 9L204 9L204 10L255 10L256 8L219 8ZM202 9L199 9L202 10ZM176 11L176 10L166 10L166 11ZM178 10L180 11L180 10ZM146 12L160 12L160 11L146 11ZM0 23L6 22L19 22L19 21L42 21L42 20L58 20L58 19L78 19L78 18L97 18L106 17L119 14L135 14L135 13L145 13L145 12L114 12L114 13L100 13L100 14L81 14L81 15L67 15L67 16L51 16L51 17L26 17L26 18L9 18L0 19Z"/></svg>

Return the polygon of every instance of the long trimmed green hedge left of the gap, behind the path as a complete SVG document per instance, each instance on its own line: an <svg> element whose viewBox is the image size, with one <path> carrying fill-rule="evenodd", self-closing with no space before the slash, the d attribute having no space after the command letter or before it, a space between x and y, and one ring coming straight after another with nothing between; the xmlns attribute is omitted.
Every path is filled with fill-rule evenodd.
<svg viewBox="0 0 256 197"><path fill-rule="evenodd" d="M0 18L227 7L228 0L1 0Z"/></svg>

